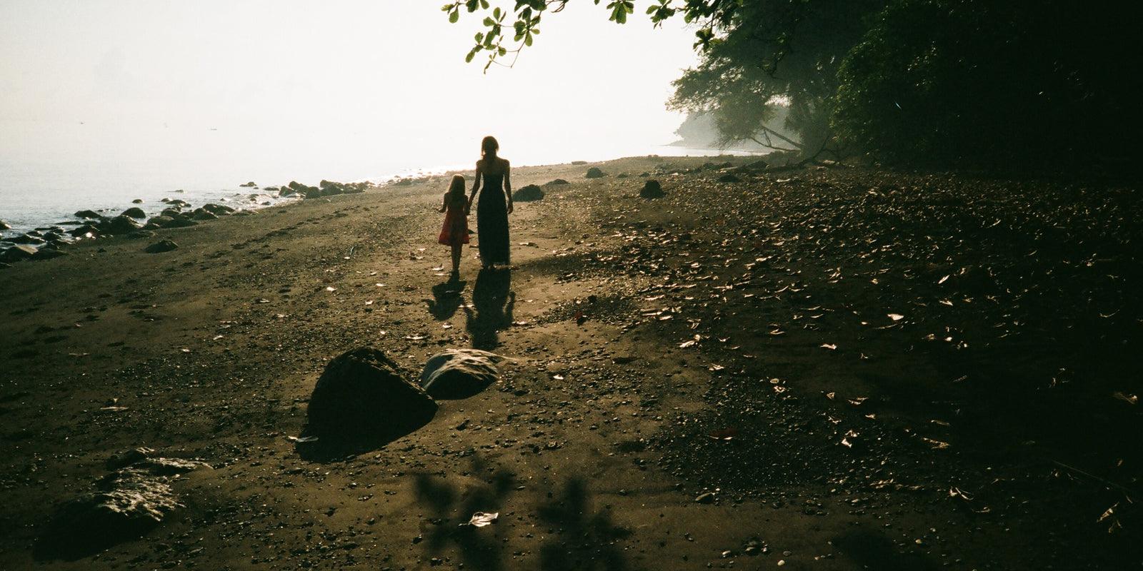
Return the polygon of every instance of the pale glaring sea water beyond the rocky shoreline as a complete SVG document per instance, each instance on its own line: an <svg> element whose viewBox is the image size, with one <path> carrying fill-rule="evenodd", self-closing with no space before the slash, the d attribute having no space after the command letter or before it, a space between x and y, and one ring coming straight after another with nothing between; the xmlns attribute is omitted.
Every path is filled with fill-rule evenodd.
<svg viewBox="0 0 1143 571"><path fill-rule="evenodd" d="M671 145L649 145L615 152L612 156L555 158L523 153L523 160L513 158L514 166L552 164L570 160L599 161L621 156L657 154L661 156L750 154L741 151L687 148ZM519 156L519 155L517 155ZM363 162L363 161L362 161ZM158 215L166 203L162 199L179 199L200 207L213 202L235 209L256 209L296 199L281 199L275 193L241 187L247 182L258 186L279 186L298 180L317 185L322 178L338 182L370 180L384 183L398 177L424 176L447 170L471 168L470 163L445 161L433 163L414 160L377 160L373 164L235 164L224 158L216 161L138 160L135 162L101 163L58 160L15 160L0 158L0 220L11 230L0 233L10 238L21 233L66 220L74 220L79 210L96 210L114 216L131 207L142 208L147 216ZM142 203L133 203L142 200Z"/></svg>

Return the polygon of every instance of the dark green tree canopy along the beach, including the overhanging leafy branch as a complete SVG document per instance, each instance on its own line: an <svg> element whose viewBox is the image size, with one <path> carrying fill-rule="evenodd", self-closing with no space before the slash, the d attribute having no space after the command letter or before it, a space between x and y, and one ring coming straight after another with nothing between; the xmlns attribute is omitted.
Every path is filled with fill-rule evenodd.
<svg viewBox="0 0 1143 571"><path fill-rule="evenodd" d="M570 0L442 7L483 15L467 54L519 54ZM623 24L631 0L602 3ZM654 0L695 26L701 59L668 102L709 113L720 143L901 163L1121 155L1143 127L1136 5L1079 0ZM781 110L782 113L776 113ZM774 121L781 115L784 124ZM793 134L784 136L782 132Z"/></svg>

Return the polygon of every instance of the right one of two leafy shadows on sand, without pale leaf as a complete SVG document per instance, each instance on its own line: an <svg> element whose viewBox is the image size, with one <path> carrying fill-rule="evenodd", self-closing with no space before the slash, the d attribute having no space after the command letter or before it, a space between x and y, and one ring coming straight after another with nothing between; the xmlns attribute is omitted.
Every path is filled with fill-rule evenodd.
<svg viewBox="0 0 1143 571"><path fill-rule="evenodd" d="M588 486L573 477L551 502L539 506L539 518L559 532L539 549L544 571L623 571L628 562L616 541L631 531L616 525L607 512L591 513ZM562 540L566 538L567 540Z"/></svg>

